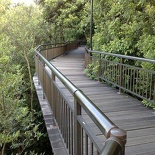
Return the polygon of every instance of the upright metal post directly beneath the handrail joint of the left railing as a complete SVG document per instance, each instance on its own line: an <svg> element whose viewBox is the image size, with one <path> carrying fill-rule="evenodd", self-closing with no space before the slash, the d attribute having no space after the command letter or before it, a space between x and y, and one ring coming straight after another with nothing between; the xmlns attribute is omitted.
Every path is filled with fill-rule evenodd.
<svg viewBox="0 0 155 155"><path fill-rule="evenodd" d="M81 125L77 120L78 115L81 115L81 105L75 99L74 101L74 155L81 155L82 152L82 130Z"/></svg>

